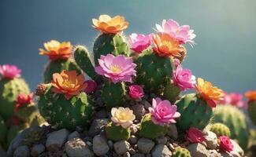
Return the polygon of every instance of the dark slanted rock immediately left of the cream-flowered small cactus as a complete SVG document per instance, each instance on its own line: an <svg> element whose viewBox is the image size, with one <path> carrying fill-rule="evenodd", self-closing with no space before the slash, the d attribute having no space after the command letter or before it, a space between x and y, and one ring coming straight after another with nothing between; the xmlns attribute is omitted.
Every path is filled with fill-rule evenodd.
<svg viewBox="0 0 256 157"><path fill-rule="evenodd" d="M94 137L98 135L108 122L109 119L94 119L88 132L89 136Z"/></svg>

